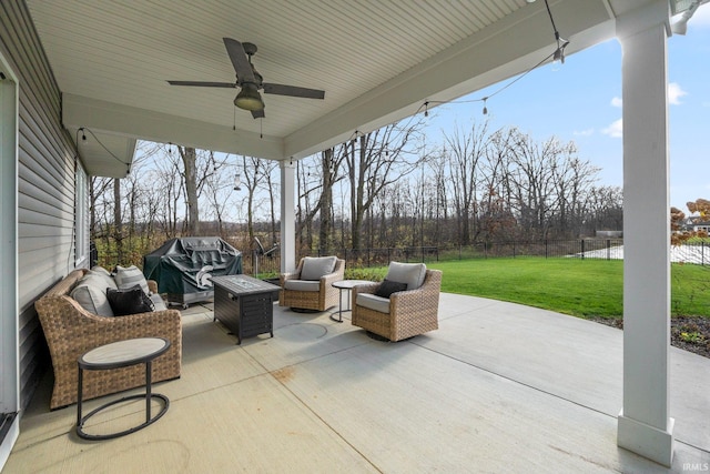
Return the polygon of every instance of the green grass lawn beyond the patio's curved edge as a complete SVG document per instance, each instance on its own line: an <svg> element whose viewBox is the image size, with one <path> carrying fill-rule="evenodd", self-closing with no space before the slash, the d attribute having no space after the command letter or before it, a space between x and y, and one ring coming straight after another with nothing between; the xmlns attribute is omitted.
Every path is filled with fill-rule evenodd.
<svg viewBox="0 0 710 474"><path fill-rule="evenodd" d="M489 259L427 263L442 291L581 317L621 317L623 263L576 259ZM671 265L671 314L710 316L710 268Z"/></svg>

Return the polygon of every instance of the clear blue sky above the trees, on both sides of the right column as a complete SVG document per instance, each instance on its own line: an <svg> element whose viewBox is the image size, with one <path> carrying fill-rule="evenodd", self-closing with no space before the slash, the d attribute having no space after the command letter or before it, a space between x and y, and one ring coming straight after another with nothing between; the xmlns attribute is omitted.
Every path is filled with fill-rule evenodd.
<svg viewBox="0 0 710 474"><path fill-rule="evenodd" d="M564 37L564 26L558 24ZM551 33L550 33L551 34ZM686 36L668 40L670 203L710 199L710 3L698 9ZM504 81L436 108L430 130L450 130L485 120L483 103ZM546 64L487 101L491 130L515 125L536 140L577 144L581 159L601 168L597 184L621 186L621 46L617 40ZM432 133L434 135L435 133Z"/></svg>

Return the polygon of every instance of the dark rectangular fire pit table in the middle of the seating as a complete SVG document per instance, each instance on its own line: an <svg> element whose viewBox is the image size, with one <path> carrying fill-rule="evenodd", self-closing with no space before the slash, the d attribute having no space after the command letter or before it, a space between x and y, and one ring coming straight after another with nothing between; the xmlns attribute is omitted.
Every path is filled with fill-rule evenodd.
<svg viewBox="0 0 710 474"><path fill-rule="evenodd" d="M212 279L214 285L214 320L220 320L243 337L270 333L274 336L274 302L280 286L248 275L224 275Z"/></svg>

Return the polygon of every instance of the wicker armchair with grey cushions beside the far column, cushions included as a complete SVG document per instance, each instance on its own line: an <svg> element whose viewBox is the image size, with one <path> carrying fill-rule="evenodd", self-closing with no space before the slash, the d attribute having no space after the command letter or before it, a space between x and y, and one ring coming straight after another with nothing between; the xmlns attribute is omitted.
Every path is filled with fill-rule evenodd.
<svg viewBox="0 0 710 474"><path fill-rule="evenodd" d="M323 270L328 265L327 270ZM295 272L282 273L278 305L300 310L325 311L339 301L339 291L333 282L345 276L345 260L336 256L305 256Z"/></svg>

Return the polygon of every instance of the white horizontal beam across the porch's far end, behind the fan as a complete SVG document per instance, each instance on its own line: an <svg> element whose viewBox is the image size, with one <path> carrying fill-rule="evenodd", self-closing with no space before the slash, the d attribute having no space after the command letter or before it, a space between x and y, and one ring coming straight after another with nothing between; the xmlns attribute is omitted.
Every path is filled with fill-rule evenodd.
<svg viewBox="0 0 710 474"><path fill-rule="evenodd" d="M152 110L65 93L62 122L68 129L89 128L159 143L176 143L202 150L282 160L283 141L275 137L232 130Z"/></svg>

